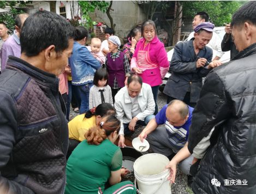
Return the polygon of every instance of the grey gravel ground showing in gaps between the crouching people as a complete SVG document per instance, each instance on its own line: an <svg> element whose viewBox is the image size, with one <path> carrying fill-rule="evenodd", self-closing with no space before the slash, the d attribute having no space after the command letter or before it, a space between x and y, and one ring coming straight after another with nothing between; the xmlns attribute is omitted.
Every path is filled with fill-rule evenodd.
<svg viewBox="0 0 256 194"><path fill-rule="evenodd" d="M166 96L159 92L158 93L158 110L160 110L165 104L166 104ZM77 116L78 114L75 113L73 111L73 108L70 107L70 119L73 119L75 116ZM138 128L135 130L134 134L132 135L132 139L135 137L138 137L138 135L140 134L140 132L143 130L144 128ZM129 175L129 177L132 177L131 181L134 181L134 177L133 175ZM171 193L172 194L193 194L193 191L187 186L187 175L183 174L181 171L177 171L176 173L176 179L175 179L175 183L171 186Z"/></svg>

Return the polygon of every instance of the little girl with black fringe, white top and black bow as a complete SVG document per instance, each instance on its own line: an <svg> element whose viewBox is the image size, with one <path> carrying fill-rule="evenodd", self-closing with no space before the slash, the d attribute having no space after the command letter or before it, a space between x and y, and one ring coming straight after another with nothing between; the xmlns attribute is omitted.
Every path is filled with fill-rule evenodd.
<svg viewBox="0 0 256 194"><path fill-rule="evenodd" d="M112 106L114 105L111 88L108 85L108 78L108 71L106 71L104 67L97 69L97 71L95 72L93 78L94 85L91 87L89 94L90 110L104 102L108 102Z"/></svg>

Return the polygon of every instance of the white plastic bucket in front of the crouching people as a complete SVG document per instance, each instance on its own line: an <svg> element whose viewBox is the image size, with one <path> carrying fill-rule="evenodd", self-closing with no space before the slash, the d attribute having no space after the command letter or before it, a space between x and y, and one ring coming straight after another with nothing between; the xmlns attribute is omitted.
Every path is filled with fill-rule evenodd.
<svg viewBox="0 0 256 194"><path fill-rule="evenodd" d="M168 157L162 154L145 154L140 156L133 165L135 181L141 194L171 194ZM136 184L135 184L136 185Z"/></svg>

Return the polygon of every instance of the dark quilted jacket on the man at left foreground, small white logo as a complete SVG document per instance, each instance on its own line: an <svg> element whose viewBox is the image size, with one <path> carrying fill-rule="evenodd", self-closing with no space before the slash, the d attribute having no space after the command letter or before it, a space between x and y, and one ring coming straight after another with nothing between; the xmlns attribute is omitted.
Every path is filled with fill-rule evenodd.
<svg viewBox="0 0 256 194"><path fill-rule="evenodd" d="M9 58L0 75L0 193L63 193L68 127L58 78Z"/></svg>

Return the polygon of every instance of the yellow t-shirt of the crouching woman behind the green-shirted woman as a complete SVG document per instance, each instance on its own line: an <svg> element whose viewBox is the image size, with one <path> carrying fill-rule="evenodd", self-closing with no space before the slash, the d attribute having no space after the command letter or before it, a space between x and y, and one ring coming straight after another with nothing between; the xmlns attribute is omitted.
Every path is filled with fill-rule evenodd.
<svg viewBox="0 0 256 194"><path fill-rule="evenodd" d="M68 138L83 141L85 140L85 132L96 126L96 116L85 118L85 114L79 114L68 122Z"/></svg>

